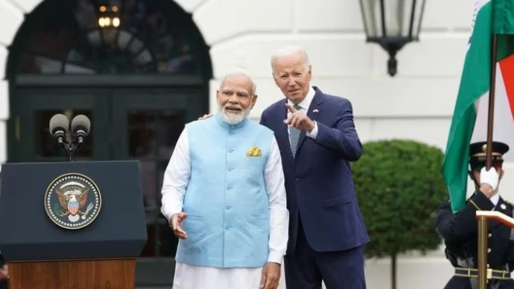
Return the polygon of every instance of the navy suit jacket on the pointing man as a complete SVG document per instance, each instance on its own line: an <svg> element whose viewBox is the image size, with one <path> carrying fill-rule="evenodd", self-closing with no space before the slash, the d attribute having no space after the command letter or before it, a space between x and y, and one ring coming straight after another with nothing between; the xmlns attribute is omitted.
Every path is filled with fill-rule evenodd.
<svg viewBox="0 0 514 289"><path fill-rule="evenodd" d="M296 248L299 216L307 242L316 251L348 250L370 240L350 171L350 161L362 155L352 103L314 89L307 116L318 123L318 136L314 140L302 132L295 158L284 123L287 99L273 103L261 116L261 124L275 133L282 155L290 214L287 254Z"/></svg>

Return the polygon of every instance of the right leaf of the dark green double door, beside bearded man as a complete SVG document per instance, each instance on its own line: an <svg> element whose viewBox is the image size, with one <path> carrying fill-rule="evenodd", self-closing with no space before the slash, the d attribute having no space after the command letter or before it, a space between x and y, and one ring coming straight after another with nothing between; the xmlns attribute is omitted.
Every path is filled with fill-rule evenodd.
<svg viewBox="0 0 514 289"><path fill-rule="evenodd" d="M146 244L136 269L140 285L171 285L177 240L160 213L164 170L184 125L205 113L203 90L130 89L113 94L113 159L140 161L148 224ZM155 258L158 257L158 258Z"/></svg>

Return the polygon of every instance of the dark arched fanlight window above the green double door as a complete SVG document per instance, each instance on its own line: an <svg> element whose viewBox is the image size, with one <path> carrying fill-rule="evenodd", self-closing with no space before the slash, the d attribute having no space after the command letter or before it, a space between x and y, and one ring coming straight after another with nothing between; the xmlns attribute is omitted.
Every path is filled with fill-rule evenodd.
<svg viewBox="0 0 514 289"><path fill-rule="evenodd" d="M176 6L171 0L44 1L36 8L44 13L27 16L32 27L16 73L201 74L195 37L188 35L194 33L174 17Z"/></svg>

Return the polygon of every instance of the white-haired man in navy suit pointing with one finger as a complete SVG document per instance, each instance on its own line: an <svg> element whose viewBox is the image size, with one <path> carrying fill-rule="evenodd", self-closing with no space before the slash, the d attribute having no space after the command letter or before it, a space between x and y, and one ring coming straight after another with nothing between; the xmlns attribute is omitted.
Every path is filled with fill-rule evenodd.
<svg viewBox="0 0 514 289"><path fill-rule="evenodd" d="M261 124L273 130L282 155L289 243L288 289L364 289L363 246L369 242L357 204L350 162L362 155L352 103L311 86L307 53L284 47L271 60L285 99Z"/></svg>

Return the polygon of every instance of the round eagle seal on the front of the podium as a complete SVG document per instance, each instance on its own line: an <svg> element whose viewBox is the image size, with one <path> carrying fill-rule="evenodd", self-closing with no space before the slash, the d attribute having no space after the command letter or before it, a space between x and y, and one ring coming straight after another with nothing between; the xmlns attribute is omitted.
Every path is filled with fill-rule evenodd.
<svg viewBox="0 0 514 289"><path fill-rule="evenodd" d="M100 190L89 177L64 174L48 186L45 193L46 214L53 223L68 230L89 226L102 207Z"/></svg>

